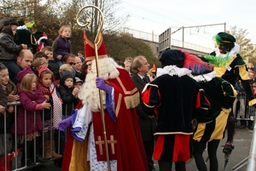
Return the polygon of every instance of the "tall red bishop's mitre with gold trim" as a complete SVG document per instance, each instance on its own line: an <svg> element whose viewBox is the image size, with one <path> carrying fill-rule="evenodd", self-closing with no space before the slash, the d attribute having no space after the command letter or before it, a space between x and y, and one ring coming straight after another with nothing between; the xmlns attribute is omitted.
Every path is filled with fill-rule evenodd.
<svg viewBox="0 0 256 171"><path fill-rule="evenodd" d="M107 50L105 43L103 41L102 33L99 35L98 42L96 43L98 58L108 58ZM90 39L86 36L84 31L84 52L85 52L85 61L95 60L95 46L94 43L90 42Z"/></svg>

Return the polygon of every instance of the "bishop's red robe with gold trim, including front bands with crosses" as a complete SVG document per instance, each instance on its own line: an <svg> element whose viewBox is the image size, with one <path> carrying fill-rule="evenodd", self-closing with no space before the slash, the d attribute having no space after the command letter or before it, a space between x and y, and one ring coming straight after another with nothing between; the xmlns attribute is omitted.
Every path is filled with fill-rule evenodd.
<svg viewBox="0 0 256 171"><path fill-rule="evenodd" d="M114 89L114 111L117 117L117 122L114 123L109 117L108 111L105 110L107 139L110 140L108 141L108 153L110 154L110 158L117 158L118 171L146 171L148 170L148 164L136 111L136 106L139 103L139 93L128 72L124 69L118 68L118 70L119 77L108 79L107 81ZM103 160L106 155L105 146L100 145L102 140L104 140L100 113L93 113L93 123L95 139L98 141L96 144L97 156L99 151L103 152L103 155L97 157L97 159ZM108 130L112 131L108 133ZM100 137L101 140L99 140L98 137ZM84 143L86 144L86 142ZM83 148L87 148L87 146L84 145L84 143L78 143L78 141L74 140L71 136L71 132L68 131L61 168L62 171L86 170L85 168L88 167L88 163L84 161L84 157L86 157L85 151L87 152L87 149L83 150ZM112 155L113 151L114 154ZM84 161L84 166L80 163L81 160ZM79 167L74 167L76 164L79 164Z"/></svg>

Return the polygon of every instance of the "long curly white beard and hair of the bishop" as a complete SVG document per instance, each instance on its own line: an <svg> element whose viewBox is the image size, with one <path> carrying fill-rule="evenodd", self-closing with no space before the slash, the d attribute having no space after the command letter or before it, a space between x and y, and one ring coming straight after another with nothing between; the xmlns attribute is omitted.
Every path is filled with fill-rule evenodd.
<svg viewBox="0 0 256 171"><path fill-rule="evenodd" d="M112 58L103 58L99 60L99 77L104 80L108 78L115 78L119 76L117 70L118 64ZM100 111L101 102L99 96L99 89L96 88L96 60L92 60L91 70L86 75L85 82L79 91L79 99L82 103L88 103L91 111ZM106 109L106 92L102 91L102 104Z"/></svg>

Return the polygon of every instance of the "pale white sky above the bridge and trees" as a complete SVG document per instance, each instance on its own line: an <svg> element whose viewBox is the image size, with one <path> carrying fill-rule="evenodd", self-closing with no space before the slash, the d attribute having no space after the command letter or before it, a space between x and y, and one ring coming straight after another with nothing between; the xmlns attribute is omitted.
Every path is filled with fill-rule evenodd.
<svg viewBox="0 0 256 171"><path fill-rule="evenodd" d="M237 26L247 30L247 38L256 44L256 1L238 0L122 0L120 15L129 14L125 27L160 35L171 27L172 39L214 48L212 37ZM207 25L207 26L205 26Z"/></svg>

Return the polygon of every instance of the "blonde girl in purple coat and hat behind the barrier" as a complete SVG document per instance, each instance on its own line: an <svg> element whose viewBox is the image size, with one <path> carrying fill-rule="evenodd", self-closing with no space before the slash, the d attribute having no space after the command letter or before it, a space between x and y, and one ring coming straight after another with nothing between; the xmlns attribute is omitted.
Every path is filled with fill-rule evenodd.
<svg viewBox="0 0 256 171"><path fill-rule="evenodd" d="M17 127L15 130L15 125L13 124L12 133L17 134L18 140L26 140L26 147L25 145L23 146L21 164L23 166L25 166L25 164L27 166L35 164L35 162L32 161L32 149L34 149L32 140L36 141L36 162L47 162L47 160L41 157L39 153L40 142L38 138L42 131L42 119L39 111L49 109L50 104L47 103L44 95L38 92L37 76L32 72L30 67L27 67L18 73L17 81L21 105L18 108Z"/></svg>

